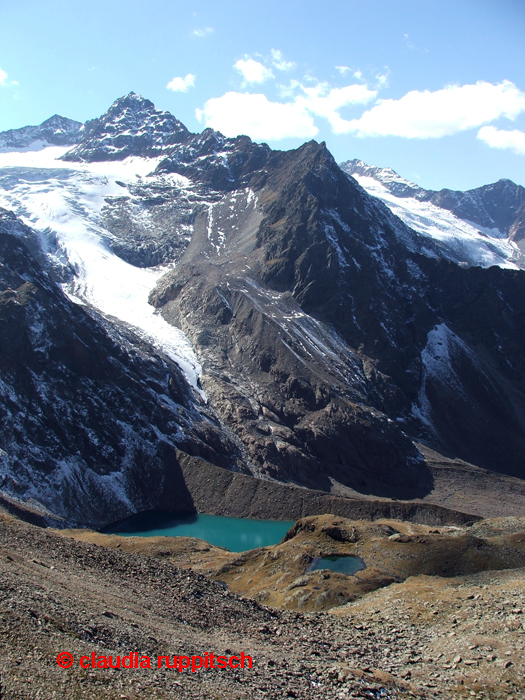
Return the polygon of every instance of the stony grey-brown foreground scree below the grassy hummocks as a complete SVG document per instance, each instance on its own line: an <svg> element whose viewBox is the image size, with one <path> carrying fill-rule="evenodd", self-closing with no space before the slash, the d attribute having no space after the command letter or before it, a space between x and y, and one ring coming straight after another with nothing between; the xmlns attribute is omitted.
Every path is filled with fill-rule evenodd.
<svg viewBox="0 0 525 700"><path fill-rule="evenodd" d="M335 534L335 524L327 527L325 521L318 524ZM352 523L342 525L336 525L339 532L353 534ZM412 526L392 525L399 530ZM360 534L388 529L380 523L359 526ZM479 526L485 530L486 521ZM523 541L523 531L518 535L513 530L516 540ZM502 534L475 533L489 538ZM75 533L90 535L95 533ZM103 537L98 534L99 541ZM440 535L430 538L439 540ZM224 584L170 561L174 550L189 545L190 566L199 567L198 559L212 553L202 541L117 539L123 541L112 541L108 548L75 542L0 514L0 678L7 697L32 699L39 692L45 697L62 693L71 700L123 695L166 700L181 694L199 700L524 697L523 569L454 578L410 576L330 613L307 613L243 599ZM390 544L400 549L428 546L421 533L403 539ZM270 568L281 548L245 555L266 553ZM283 559L276 557L276 569L284 568ZM312 586L312 598L337 576L326 570L315 575L319 582ZM353 577L345 578L350 582ZM301 590L305 587L296 585L290 592ZM75 659L68 670L56 663L59 651L66 650ZM252 656L253 667L179 674L157 669L156 663L128 673L103 668L86 673L78 666L78 659L92 652L115 657L131 651L154 659L244 651Z"/></svg>

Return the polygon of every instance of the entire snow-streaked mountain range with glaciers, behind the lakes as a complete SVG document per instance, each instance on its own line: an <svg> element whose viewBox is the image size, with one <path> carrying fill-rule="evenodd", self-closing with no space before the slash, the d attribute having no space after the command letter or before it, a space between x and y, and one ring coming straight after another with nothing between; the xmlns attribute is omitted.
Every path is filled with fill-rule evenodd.
<svg viewBox="0 0 525 700"><path fill-rule="evenodd" d="M6 497L188 509L181 454L367 498L428 497L422 445L525 477L523 188L428 192L134 93L0 144Z"/></svg>

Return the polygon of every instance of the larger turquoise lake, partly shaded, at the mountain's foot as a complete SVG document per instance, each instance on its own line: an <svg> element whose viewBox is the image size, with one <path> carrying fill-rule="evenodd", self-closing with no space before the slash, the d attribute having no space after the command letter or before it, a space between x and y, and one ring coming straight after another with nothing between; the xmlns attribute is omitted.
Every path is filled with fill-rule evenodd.
<svg viewBox="0 0 525 700"><path fill-rule="evenodd" d="M294 520L251 520L222 515L199 514L187 518L169 515L134 515L103 532L125 537L198 537L210 544L226 547L230 552L244 552L256 547L277 544L294 524Z"/></svg>

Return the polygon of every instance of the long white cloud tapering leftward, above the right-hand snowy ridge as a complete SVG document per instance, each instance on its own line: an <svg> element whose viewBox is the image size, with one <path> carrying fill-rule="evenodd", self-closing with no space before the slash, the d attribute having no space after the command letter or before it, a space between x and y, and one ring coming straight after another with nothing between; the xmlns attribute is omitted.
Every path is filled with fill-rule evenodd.
<svg viewBox="0 0 525 700"><path fill-rule="evenodd" d="M342 121L339 133L358 136L440 138L525 111L525 93L508 80L498 85L451 85L431 92L413 90L399 100L382 100L359 119Z"/></svg>

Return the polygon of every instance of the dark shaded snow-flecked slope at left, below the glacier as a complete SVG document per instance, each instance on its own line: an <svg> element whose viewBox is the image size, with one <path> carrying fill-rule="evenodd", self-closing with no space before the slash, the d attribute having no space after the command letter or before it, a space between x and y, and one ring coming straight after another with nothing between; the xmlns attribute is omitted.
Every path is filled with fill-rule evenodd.
<svg viewBox="0 0 525 700"><path fill-rule="evenodd" d="M70 522L194 511L178 450L235 468L238 448L178 365L71 302L0 210L0 488Z"/></svg>

